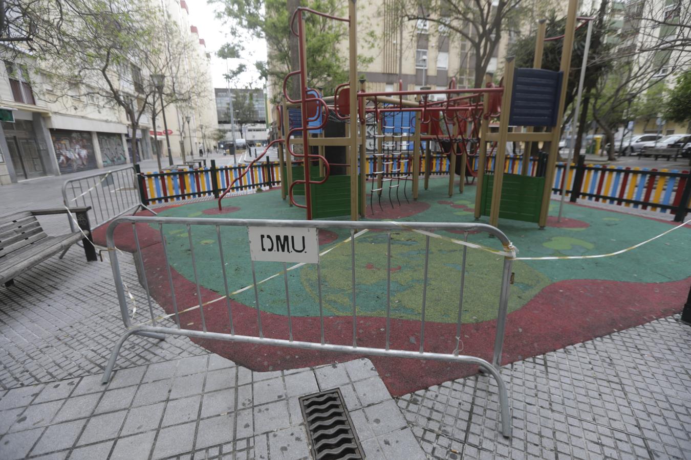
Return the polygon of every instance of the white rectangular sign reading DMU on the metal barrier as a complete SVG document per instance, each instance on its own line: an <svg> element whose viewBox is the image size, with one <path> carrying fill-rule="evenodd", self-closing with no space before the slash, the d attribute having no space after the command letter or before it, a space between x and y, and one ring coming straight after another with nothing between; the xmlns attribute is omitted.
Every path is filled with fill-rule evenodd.
<svg viewBox="0 0 691 460"><path fill-rule="evenodd" d="M316 228L247 227L253 261L319 263Z"/></svg>

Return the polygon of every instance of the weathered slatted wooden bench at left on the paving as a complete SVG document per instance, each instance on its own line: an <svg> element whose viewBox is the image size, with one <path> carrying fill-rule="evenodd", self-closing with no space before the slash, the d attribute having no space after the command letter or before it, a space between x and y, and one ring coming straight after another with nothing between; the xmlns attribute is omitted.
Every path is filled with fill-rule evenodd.
<svg viewBox="0 0 691 460"><path fill-rule="evenodd" d="M74 243L82 240L86 260L96 260L96 248L91 241L91 226L86 212L91 207L70 208L82 231L49 237L36 216L66 214L66 208L15 212L0 217L0 283L12 286L17 274L28 270L61 252L60 259ZM84 237L84 234L88 238Z"/></svg>

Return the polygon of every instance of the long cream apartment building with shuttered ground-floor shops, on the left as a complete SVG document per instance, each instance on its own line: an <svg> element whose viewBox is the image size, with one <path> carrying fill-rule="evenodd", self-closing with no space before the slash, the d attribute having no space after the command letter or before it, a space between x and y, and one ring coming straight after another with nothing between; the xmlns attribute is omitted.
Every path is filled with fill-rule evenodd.
<svg viewBox="0 0 691 460"><path fill-rule="evenodd" d="M197 72L202 78L196 78L195 83L207 82L207 91L198 92L201 96L189 106L170 105L166 110L171 152L179 158L183 151L197 152L202 146L204 126L216 126L210 56L204 40L189 24L185 1L162 0L162 6L170 14L171 26L196 44L185 61L187 75ZM44 70L31 63L28 55L0 62L0 184L111 168L155 157L150 113L142 114L140 129L133 133L124 110L95 94L55 94ZM128 80L133 86L149 84L150 78L131 66ZM136 99L135 89L132 93ZM158 149L165 157L160 114L156 130L160 132ZM138 147L136 159L132 158L133 142Z"/></svg>

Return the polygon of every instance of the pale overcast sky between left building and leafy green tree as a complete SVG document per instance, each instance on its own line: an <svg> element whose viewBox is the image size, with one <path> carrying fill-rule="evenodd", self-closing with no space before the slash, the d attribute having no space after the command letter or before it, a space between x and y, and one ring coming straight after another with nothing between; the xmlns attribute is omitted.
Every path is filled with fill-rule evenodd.
<svg viewBox="0 0 691 460"><path fill-rule="evenodd" d="M211 53L211 77L214 80L214 88L225 88L226 82L223 74L226 72L226 62L225 59L216 57L216 50L230 39L223 30L223 21L215 17L214 12L218 6L207 4L206 0L188 0L187 6L189 6L189 17L192 25L197 26L199 38L205 40L207 51ZM266 42L248 36L244 45L247 50L247 57L245 59L228 59L228 66L232 69L240 63L245 63L249 70L239 78L240 83L236 85L238 88L249 87L249 83L252 83L253 88L261 88L263 83L259 79L258 72L254 69L254 62L266 60Z"/></svg>

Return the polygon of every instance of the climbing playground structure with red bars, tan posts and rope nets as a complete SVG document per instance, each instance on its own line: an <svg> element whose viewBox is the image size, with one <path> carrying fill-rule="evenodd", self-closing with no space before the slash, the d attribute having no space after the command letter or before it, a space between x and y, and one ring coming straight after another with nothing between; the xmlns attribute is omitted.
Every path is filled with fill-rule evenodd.
<svg viewBox="0 0 691 460"><path fill-rule="evenodd" d="M411 182L411 197L418 199L421 162L422 159L426 162L424 188L427 189L430 150L436 144L449 155L451 163L449 197L453 196L455 174L462 178L459 192L464 190L463 178L477 176L475 219L489 216L489 223L496 226L502 217L536 222L544 228L565 106L567 79L564 75L569 73L575 24L577 19L590 19L576 17L576 0L569 1L565 34L545 39L545 21L540 21L533 68L515 68L513 59L507 59L500 86L487 81L485 88L457 88L455 79L451 79L446 89L409 91L399 82L398 90L389 92L368 92L366 81L357 79L357 12L354 3L348 5L348 18L302 7L292 16L291 32L299 39L300 68L283 80L284 101L276 108L280 139L267 146L268 150L278 144L278 159L285 179L281 181L282 198L287 198L291 206L304 208L308 220L349 215L355 221L364 217L366 123L374 121L372 156L375 161L369 190L372 212L375 193L380 208L381 195L387 191L393 206L394 189L395 199L400 203L401 186L407 201L408 182ZM337 86L333 96L326 97L307 86L305 14L319 14L348 23L349 81ZM554 39L564 39L558 72L540 69L543 43ZM298 99L292 99L287 93L291 77L299 78ZM443 95L444 99L435 101L433 95ZM410 97L415 100L406 99ZM343 130L328 136L327 127L332 122L341 123ZM535 132L535 128L544 131ZM505 174L501 167L486 171L488 157L493 152L496 152L495 164L504 164L508 142L525 143L522 172ZM549 143L549 154L546 167L538 168L540 175L531 176L529 152L534 142ZM301 146L302 151L296 152L296 146ZM334 155L334 150L338 154ZM477 157L477 172L469 167L471 157ZM225 192L218 199L219 209L224 195ZM300 195L305 197L303 203L295 199Z"/></svg>

